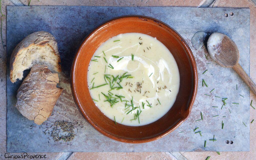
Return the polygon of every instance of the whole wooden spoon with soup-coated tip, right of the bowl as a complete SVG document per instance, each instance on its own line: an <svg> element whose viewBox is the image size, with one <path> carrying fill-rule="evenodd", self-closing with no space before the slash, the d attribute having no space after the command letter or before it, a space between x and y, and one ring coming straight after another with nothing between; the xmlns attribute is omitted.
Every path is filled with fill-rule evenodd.
<svg viewBox="0 0 256 160"><path fill-rule="evenodd" d="M228 36L212 33L207 41L207 49L212 59L222 67L233 68L256 95L256 85L238 63L239 50Z"/></svg>

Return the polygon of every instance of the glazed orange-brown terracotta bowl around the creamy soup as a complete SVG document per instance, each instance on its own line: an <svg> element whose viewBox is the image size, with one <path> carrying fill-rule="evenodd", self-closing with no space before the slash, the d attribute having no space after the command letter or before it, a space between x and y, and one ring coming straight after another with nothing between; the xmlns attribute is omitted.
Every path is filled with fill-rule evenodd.
<svg viewBox="0 0 256 160"><path fill-rule="evenodd" d="M147 34L161 41L174 56L180 74L180 88L172 108L156 122L137 127L115 125L95 106L87 87L88 65L96 49L111 37L132 32ZM165 23L144 16L117 17L93 30L78 49L71 71L73 98L82 116L103 135L127 143L157 140L174 131L190 114L197 83L196 62L184 39Z"/></svg>

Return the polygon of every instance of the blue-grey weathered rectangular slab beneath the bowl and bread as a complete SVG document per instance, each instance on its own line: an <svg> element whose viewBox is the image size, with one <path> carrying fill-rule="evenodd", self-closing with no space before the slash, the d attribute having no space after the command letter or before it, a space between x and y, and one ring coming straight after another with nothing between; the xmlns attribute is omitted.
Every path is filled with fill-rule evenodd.
<svg viewBox="0 0 256 160"><path fill-rule="evenodd" d="M223 16L230 12L234 15L227 18ZM72 60L82 39L104 21L131 14L157 18L177 30L193 51L199 77L198 94L190 117L169 135L143 144L117 142L93 129L76 108L69 84ZM227 34L238 45L239 62L249 74L249 17L250 10L247 8L8 6L7 59L9 60L18 42L30 33L39 30L50 32L58 41L63 70L59 75L60 85L65 90L56 103L53 115L39 129L38 125L24 118L15 108L16 91L22 81L12 84L9 80L9 68L7 69L7 151L249 151L249 88L232 69L222 68L211 61L206 49L194 50L190 41L198 30L209 33L219 31ZM209 60L205 58L205 54ZM7 66L9 66L8 63ZM206 69L208 71L202 74ZM26 74L28 71L24 76ZM206 80L208 87L202 87L202 79ZM209 93L214 88L215 90ZM215 96L228 98L227 105L221 109L223 102L221 98ZM239 105L232 102L237 102ZM218 106L218 108L212 108L212 106ZM204 119L195 121L201 118L200 112L203 113ZM214 115L219 116L212 117ZM56 120L74 120L78 123L75 126L77 136L73 141L67 144L47 139L49 135L43 133L42 127L50 126ZM221 121L224 123L224 129L221 129ZM193 132L195 127L199 127L197 131L201 131L202 136ZM217 141L209 141L214 135ZM205 140L207 140L206 147L204 147ZM234 143L226 144L226 140L232 140Z"/></svg>

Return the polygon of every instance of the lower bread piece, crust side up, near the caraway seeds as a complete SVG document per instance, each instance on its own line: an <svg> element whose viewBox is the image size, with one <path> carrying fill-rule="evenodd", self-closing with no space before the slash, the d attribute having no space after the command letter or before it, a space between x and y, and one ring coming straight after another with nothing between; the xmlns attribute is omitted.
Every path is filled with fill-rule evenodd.
<svg viewBox="0 0 256 160"><path fill-rule="evenodd" d="M62 88L59 77L46 66L34 65L17 92L16 108L29 120L40 125L51 115Z"/></svg>

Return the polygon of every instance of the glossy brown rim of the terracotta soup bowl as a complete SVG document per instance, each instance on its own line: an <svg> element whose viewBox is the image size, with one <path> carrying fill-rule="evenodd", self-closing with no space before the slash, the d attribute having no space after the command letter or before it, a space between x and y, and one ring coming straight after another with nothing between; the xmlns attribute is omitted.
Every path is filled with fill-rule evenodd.
<svg viewBox="0 0 256 160"><path fill-rule="evenodd" d="M78 99L78 96L77 96L77 93L76 93L76 90L74 88L74 85L75 85L75 81L74 81L74 73L75 73L75 66L77 64L77 59L78 59L78 56L79 54L81 54L81 49L83 48L84 44L87 42L88 39L90 39L90 37L96 33L98 30L102 29L106 24L112 22L112 21L115 21L117 19L122 19L122 18L132 18L132 17L136 17L136 18L140 18L142 20L153 20L154 22L156 22L157 24L158 23L161 23L162 27L166 28L169 32L171 32L179 41L180 43L182 44L182 46L184 47L186 53L187 53L187 56L191 62L191 67L192 67L192 72L193 72L193 92L192 92L192 95L191 95L191 99L189 101L189 104L188 104L188 114L185 118L179 120L173 127L171 127L169 130L159 134L159 135L156 135L154 137L150 137L150 138L145 138L145 139L141 139L141 140L131 140L131 139L127 139L127 138L120 138L120 137L117 137L115 135L112 135L112 134L109 134L107 133L106 131L102 130L99 126L97 126L95 123L93 123L93 121L88 117L88 115L84 112L80 102L79 102L79 99ZM110 37L111 38L111 37ZM74 98L74 101L77 105L77 108L78 110L80 111L80 113L82 114L82 116L87 120L87 122L89 122L89 124L91 126L93 126L98 132L102 133L103 135L109 137L109 138L112 138L116 141L120 141L120 142L126 142L126 143L145 143L145 142L150 142L150 141L154 141L154 140L157 140L159 138L162 138L163 136L169 134L170 132L174 131L182 122L184 122L190 115L191 113L191 109L192 109L192 106L195 102L195 99L196 99L196 94L197 94L197 86L198 86L198 75L197 75L197 66L196 66L196 61L195 61L195 58L193 56L193 53L191 51L191 49L189 48L188 44L185 42L185 40L178 34L177 31L175 31L172 27L170 27L169 25L163 23L162 21L158 20L158 19L155 19L155 18L152 18L152 17L147 17L147 16L142 16L142 15L126 15L126 16L120 16L120 17L115 17L115 18L112 18L108 21L106 21L105 23L101 24L100 26L98 26L97 28L95 28L81 43L81 46L79 47L79 49L77 50L77 53L76 53L76 56L74 57L74 60L73 60L73 64L72 64L72 68L71 68L71 91L72 91L72 95L73 95L73 98Z"/></svg>

